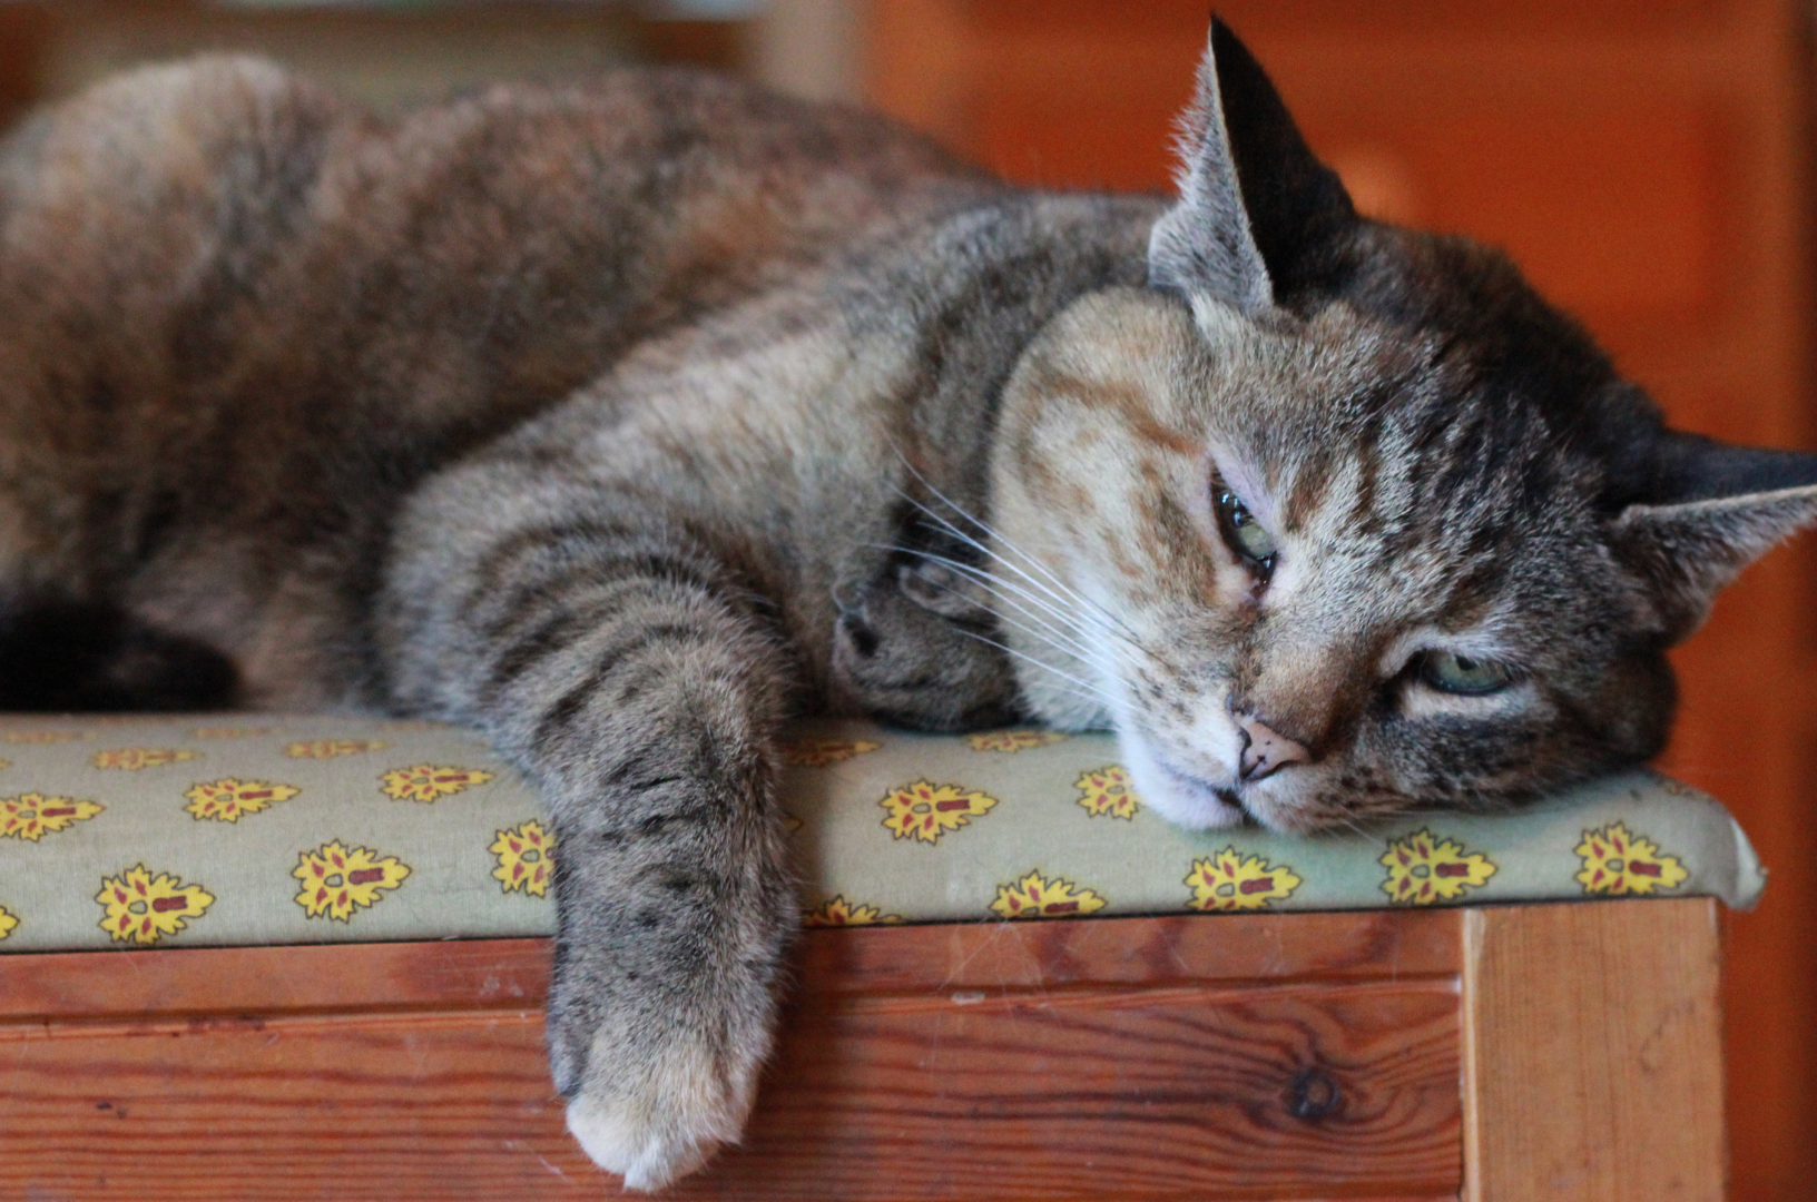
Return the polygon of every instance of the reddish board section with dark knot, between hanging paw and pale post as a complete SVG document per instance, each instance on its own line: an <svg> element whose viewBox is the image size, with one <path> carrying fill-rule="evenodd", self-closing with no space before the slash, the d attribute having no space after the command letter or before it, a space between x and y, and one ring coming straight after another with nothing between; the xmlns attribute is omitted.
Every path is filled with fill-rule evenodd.
<svg viewBox="0 0 1817 1202"><path fill-rule="evenodd" d="M1272 1198L1459 1178L1445 984L803 1008L749 1149L680 1197ZM810 1033L810 1037L803 1037ZM1014 1166L988 1175L988 1166ZM807 1186L812 1184L812 1193Z"/></svg>

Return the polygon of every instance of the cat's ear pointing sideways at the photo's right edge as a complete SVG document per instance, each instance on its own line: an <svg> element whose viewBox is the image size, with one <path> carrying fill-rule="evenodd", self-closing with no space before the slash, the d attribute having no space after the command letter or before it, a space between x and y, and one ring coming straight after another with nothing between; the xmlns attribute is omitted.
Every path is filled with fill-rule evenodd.
<svg viewBox="0 0 1817 1202"><path fill-rule="evenodd" d="M1613 521L1610 547L1652 592L1666 639L1690 637L1741 570L1817 525L1817 456L1664 432L1652 496Z"/></svg>

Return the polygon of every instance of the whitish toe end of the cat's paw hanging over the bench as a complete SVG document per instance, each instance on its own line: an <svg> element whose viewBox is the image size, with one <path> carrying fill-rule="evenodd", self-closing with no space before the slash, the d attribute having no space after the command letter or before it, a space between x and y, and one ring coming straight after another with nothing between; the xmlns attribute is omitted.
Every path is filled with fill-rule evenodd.
<svg viewBox="0 0 1817 1202"><path fill-rule="evenodd" d="M594 1164L625 1178L625 1189L661 1189L738 1142L761 1051L714 1053L681 1040L641 1060L621 1057L614 1044L603 1031L594 1039L567 1124Z"/></svg>

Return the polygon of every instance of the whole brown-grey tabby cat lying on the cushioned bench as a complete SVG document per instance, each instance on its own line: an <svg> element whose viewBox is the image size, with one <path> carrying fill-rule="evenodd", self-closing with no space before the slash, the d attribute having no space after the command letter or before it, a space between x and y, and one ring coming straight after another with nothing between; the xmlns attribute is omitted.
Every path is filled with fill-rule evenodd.
<svg viewBox="0 0 1817 1202"><path fill-rule="evenodd" d="M380 120L204 58L15 133L0 223L0 703L483 732L640 1189L754 1099L789 715L1108 726L1201 828L1503 808L1653 755L1817 519L1817 456L1361 218L1221 24L1174 202L701 74Z"/></svg>

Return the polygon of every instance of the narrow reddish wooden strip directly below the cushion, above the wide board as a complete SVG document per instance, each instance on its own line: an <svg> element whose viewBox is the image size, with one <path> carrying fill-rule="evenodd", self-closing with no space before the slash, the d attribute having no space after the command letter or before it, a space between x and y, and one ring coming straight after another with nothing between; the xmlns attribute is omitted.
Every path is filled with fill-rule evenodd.
<svg viewBox="0 0 1817 1202"><path fill-rule="evenodd" d="M1457 911L805 931L805 993L1452 977ZM0 1024L541 1006L547 939L0 957Z"/></svg>

